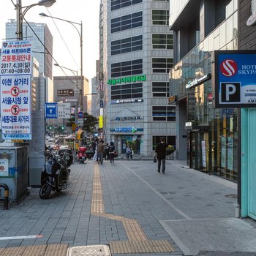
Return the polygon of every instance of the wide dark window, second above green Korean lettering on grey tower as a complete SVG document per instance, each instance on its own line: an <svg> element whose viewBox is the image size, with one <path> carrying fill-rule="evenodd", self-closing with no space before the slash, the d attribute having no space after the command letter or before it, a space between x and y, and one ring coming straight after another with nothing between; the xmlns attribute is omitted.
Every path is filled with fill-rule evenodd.
<svg viewBox="0 0 256 256"><path fill-rule="evenodd" d="M142 50L142 36L128 37L111 42L111 55Z"/></svg>

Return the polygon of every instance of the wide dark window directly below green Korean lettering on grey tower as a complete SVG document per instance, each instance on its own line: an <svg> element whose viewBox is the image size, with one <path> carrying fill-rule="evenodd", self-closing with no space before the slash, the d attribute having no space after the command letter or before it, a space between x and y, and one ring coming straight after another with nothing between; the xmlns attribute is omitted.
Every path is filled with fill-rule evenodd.
<svg viewBox="0 0 256 256"><path fill-rule="evenodd" d="M143 97L143 83L111 86L111 99L134 99Z"/></svg>

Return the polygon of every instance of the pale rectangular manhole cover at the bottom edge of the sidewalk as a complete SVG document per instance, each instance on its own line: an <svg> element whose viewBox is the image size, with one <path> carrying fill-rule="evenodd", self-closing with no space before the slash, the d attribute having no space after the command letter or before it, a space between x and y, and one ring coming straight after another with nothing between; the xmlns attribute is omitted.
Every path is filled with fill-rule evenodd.
<svg viewBox="0 0 256 256"><path fill-rule="evenodd" d="M67 256L110 256L107 245L74 246L67 249Z"/></svg>

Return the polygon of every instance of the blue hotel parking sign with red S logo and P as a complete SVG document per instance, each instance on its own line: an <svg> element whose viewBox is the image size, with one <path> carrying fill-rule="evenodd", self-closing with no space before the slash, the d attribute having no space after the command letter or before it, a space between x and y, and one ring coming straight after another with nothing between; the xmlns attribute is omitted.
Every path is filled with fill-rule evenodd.
<svg viewBox="0 0 256 256"><path fill-rule="evenodd" d="M256 50L214 51L215 108L256 107Z"/></svg>

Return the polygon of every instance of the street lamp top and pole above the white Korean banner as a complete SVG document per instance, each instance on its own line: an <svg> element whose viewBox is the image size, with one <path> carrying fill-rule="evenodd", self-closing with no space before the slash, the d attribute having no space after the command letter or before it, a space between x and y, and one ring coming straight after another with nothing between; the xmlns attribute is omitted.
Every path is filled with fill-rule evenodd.
<svg viewBox="0 0 256 256"><path fill-rule="evenodd" d="M26 15L26 12L34 6L44 6L44 7L51 7L56 0L40 0L37 4L30 4L26 7L22 7L21 0L17 0L17 4L15 4L15 10L17 10L17 38L22 40L23 39L23 18ZM25 10L22 11L22 9Z"/></svg>

